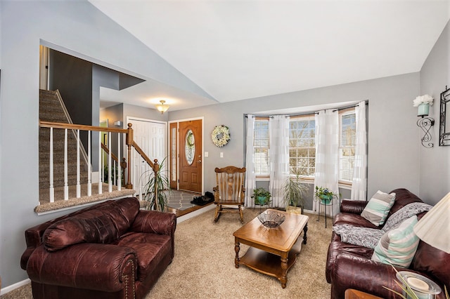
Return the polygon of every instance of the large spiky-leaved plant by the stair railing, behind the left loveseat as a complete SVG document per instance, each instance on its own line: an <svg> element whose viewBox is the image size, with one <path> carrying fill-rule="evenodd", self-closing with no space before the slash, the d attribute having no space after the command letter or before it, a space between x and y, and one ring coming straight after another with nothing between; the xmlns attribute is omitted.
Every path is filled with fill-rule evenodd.
<svg viewBox="0 0 450 299"><path fill-rule="evenodd" d="M150 169L148 181L144 185L144 201L147 201L146 208L150 210L165 211L167 206L167 195L166 190L170 192L170 182L167 178L167 171L163 171L164 162L166 159L162 160L160 167L156 173L153 169ZM155 188L156 185L156 188Z"/></svg>

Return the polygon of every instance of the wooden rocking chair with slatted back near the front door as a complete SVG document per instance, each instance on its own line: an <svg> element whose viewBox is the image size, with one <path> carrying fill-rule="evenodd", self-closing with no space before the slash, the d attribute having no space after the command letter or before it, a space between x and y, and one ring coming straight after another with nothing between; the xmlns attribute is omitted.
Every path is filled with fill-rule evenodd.
<svg viewBox="0 0 450 299"><path fill-rule="evenodd" d="M214 204L216 205L214 222L219 220L221 213L239 213L240 222L244 223L242 206L245 199L245 167L226 166L215 168L214 171L216 172L217 182L216 187L212 188Z"/></svg>

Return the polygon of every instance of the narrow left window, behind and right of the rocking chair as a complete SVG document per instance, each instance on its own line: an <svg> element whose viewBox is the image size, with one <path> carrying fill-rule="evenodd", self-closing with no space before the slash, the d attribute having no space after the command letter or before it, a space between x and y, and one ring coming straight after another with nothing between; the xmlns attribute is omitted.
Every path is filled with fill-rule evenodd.
<svg viewBox="0 0 450 299"><path fill-rule="evenodd" d="M255 175L269 175L269 118L255 119L253 165Z"/></svg>

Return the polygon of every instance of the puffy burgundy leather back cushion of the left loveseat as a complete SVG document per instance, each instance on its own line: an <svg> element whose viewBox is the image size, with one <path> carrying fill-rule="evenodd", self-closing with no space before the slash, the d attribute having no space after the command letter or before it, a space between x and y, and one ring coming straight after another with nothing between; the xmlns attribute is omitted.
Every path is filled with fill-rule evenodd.
<svg viewBox="0 0 450 299"><path fill-rule="evenodd" d="M84 242L109 244L127 232L138 212L136 198L110 201L50 225L42 237L44 246L48 251L58 251Z"/></svg>

